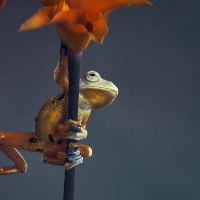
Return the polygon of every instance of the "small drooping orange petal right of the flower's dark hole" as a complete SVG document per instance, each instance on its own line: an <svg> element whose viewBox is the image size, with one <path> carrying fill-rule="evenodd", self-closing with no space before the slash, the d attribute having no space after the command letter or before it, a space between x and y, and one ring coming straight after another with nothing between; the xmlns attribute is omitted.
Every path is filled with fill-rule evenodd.
<svg viewBox="0 0 200 200"><path fill-rule="evenodd" d="M99 44L102 44L104 37L108 33L106 17L101 17L98 21L96 21L93 30L89 33L92 37L92 40Z"/></svg>

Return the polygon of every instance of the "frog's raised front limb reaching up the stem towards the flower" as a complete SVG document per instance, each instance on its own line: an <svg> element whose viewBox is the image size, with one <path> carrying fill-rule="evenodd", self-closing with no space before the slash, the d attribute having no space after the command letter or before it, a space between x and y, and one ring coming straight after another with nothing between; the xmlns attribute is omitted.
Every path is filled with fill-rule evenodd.
<svg viewBox="0 0 200 200"><path fill-rule="evenodd" d="M68 71L68 55L66 46L61 45L60 49L60 61L54 70L54 81L60 85L60 87L68 92L69 90L69 82L66 76Z"/></svg>

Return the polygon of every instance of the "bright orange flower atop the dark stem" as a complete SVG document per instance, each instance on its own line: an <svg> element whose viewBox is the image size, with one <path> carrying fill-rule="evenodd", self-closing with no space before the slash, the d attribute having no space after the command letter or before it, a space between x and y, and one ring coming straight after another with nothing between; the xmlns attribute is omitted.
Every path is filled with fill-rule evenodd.
<svg viewBox="0 0 200 200"><path fill-rule="evenodd" d="M55 23L61 41L74 52L90 40L101 44L108 32L107 16L118 7L152 5L148 0L40 0L45 6L22 24L19 31Z"/></svg>

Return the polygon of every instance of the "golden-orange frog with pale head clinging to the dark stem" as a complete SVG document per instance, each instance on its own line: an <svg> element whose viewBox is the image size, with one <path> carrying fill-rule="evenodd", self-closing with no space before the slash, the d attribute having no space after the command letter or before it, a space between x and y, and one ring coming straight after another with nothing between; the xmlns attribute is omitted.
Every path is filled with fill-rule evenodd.
<svg viewBox="0 0 200 200"><path fill-rule="evenodd" d="M63 55L54 72L54 80L62 91L49 98L36 117L34 133L0 132L0 150L14 162L13 166L0 166L0 174L26 172L27 164L16 150L41 152L44 163L66 165L66 139L84 139L87 137L86 122L91 111L101 109L117 97L118 89L110 81L100 77L95 71L89 71L80 79L78 121L63 119L64 110L68 105L67 55ZM69 133L71 125L80 125L77 134ZM83 158L90 157L92 150L84 144L70 143L71 149L80 151ZM70 166L69 166L70 165ZM66 169L76 164L68 163Z"/></svg>

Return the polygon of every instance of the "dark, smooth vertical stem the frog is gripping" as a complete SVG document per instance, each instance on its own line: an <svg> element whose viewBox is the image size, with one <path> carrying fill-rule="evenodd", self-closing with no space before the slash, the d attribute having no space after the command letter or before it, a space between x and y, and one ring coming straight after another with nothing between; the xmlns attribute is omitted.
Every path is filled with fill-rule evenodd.
<svg viewBox="0 0 200 200"><path fill-rule="evenodd" d="M75 53L68 50L68 79L69 79L69 96L68 96L68 119L78 119L78 99L79 99L79 80L81 68L82 52ZM67 140L67 148L70 142L76 140ZM67 149L66 149L67 150ZM63 200L74 199L75 185L75 167L65 170L64 195Z"/></svg>

